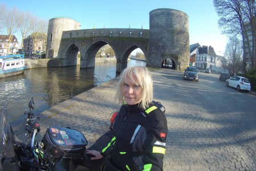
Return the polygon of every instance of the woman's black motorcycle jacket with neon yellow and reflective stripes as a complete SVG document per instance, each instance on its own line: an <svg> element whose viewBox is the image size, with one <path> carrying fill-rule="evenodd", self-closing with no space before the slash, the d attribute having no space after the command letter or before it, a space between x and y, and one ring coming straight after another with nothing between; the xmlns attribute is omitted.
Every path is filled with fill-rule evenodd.
<svg viewBox="0 0 256 171"><path fill-rule="evenodd" d="M101 150L111 153L110 161L119 170L162 170L168 132L166 117L155 105L147 110L122 105L112 130L114 137Z"/></svg>

